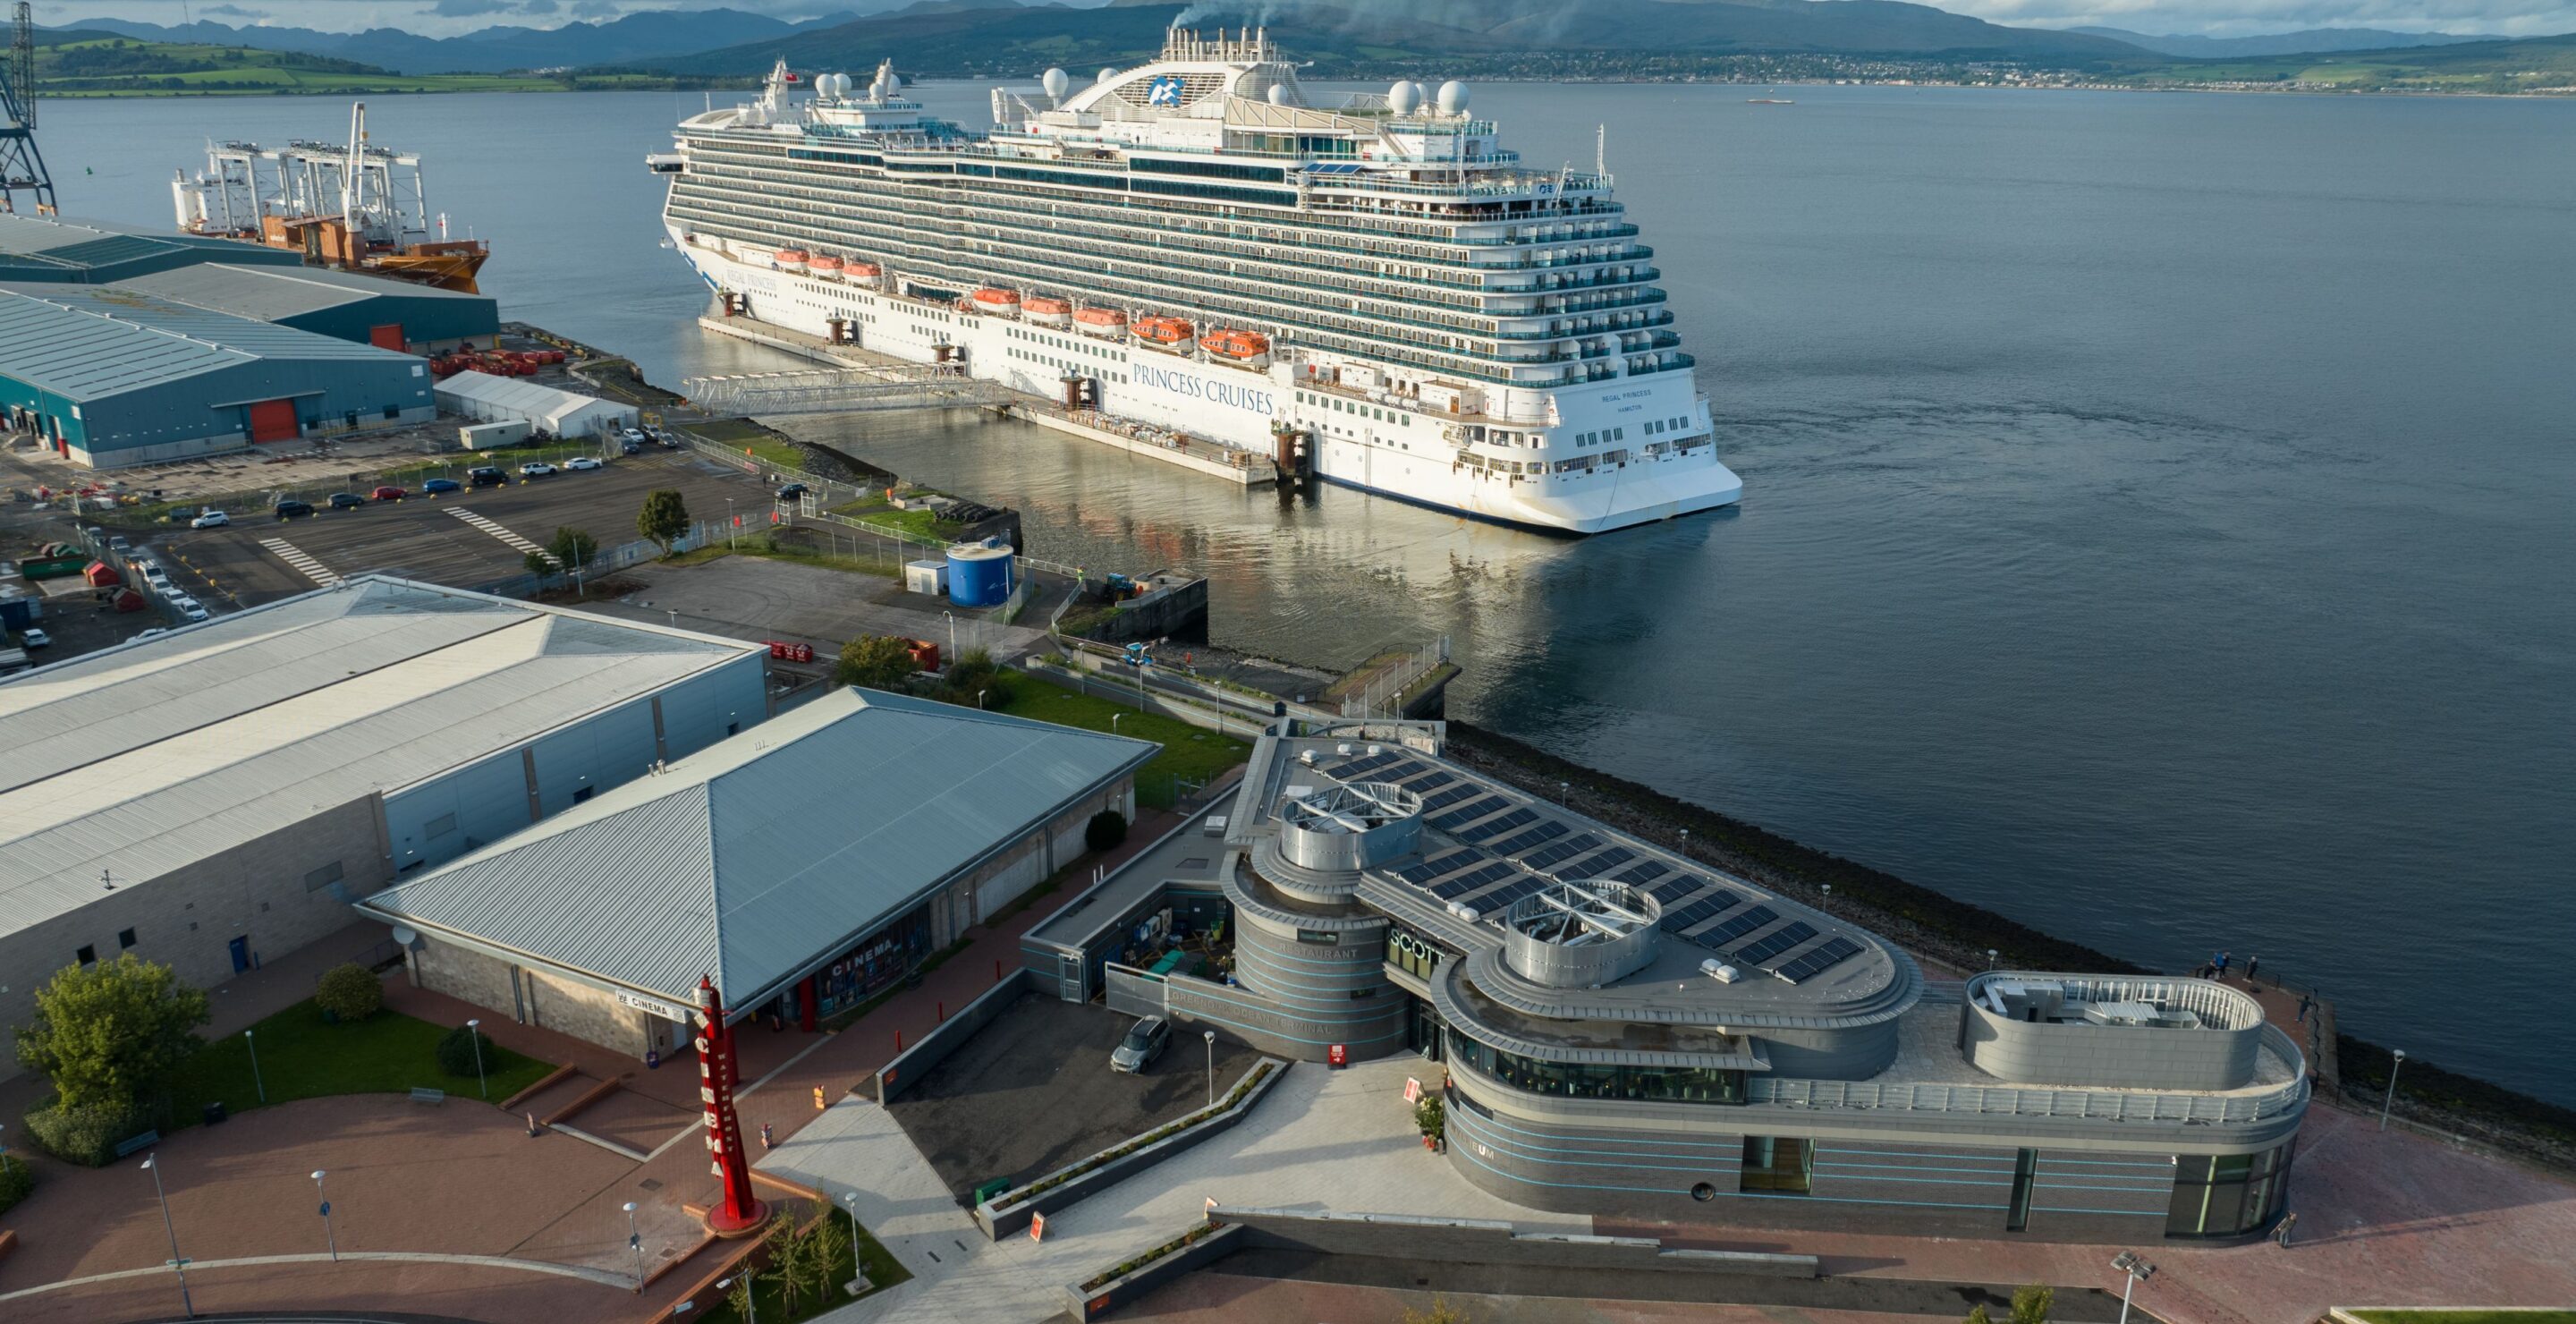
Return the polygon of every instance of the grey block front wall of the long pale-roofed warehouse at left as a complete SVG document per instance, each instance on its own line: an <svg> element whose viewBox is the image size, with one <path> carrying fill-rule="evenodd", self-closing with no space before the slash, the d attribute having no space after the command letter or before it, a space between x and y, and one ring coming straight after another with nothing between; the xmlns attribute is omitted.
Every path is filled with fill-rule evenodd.
<svg viewBox="0 0 2576 1324"><path fill-rule="evenodd" d="M337 868L337 881L312 881ZM258 961L276 961L317 938L358 922L350 899L392 881L376 799L355 799L314 817L209 855L160 878L124 878L113 891L93 886L88 904L0 938L0 1025L26 1025L36 1015L36 989L54 971L75 966L80 948L98 961L131 950L170 966L201 989L232 979L232 940L247 938ZM121 935L134 930L134 948ZM348 956L381 940L371 927ZM0 1079L18 1074L18 1056L0 1054Z"/></svg>

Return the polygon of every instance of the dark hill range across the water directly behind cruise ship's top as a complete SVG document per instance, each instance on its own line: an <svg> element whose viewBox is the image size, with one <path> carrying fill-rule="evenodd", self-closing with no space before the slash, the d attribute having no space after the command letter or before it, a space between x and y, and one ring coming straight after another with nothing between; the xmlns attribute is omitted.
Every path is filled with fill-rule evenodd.
<svg viewBox="0 0 2576 1324"><path fill-rule="evenodd" d="M1030 75L1048 64L1136 64L1162 49L1182 13L1208 26L1262 18L1291 59L1319 75L1530 52L1857 54L2020 59L2053 67L2138 67L2156 57L2089 33L2004 28L1899 0L1388 0L1257 8L1118 0L1097 10L1007 3L925 3L899 13L809 28L641 67L680 75L755 75L781 54L811 70L866 70L878 59L914 75Z"/></svg>

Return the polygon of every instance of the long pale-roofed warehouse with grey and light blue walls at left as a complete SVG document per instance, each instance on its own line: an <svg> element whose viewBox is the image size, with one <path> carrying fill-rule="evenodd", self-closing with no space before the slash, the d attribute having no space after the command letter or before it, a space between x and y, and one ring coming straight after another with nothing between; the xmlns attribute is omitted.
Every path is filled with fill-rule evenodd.
<svg viewBox="0 0 2576 1324"><path fill-rule="evenodd" d="M0 680L0 1023L124 950L222 984L765 690L752 644L384 577Z"/></svg>

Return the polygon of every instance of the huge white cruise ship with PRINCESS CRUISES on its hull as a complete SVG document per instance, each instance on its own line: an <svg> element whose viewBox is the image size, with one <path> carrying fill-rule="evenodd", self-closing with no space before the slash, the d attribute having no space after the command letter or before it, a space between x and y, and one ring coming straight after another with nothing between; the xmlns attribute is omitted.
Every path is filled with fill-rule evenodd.
<svg viewBox="0 0 2576 1324"><path fill-rule="evenodd" d="M1461 82L1334 100L1260 28L994 88L987 131L891 62L866 88L781 62L647 162L726 317L1479 520L1741 497L1607 173L1520 165Z"/></svg>

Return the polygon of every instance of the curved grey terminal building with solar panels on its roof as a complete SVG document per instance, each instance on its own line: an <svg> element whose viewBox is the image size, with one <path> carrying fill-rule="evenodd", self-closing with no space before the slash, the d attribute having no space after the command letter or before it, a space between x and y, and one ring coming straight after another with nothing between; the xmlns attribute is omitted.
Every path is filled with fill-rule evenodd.
<svg viewBox="0 0 2576 1324"><path fill-rule="evenodd" d="M1432 1056L1448 1159L1530 1208L2130 1244L2282 1213L2308 1072L2244 992L1929 979L1440 760L1437 724L1370 732L1399 739L1260 742L1216 871L1231 981L1110 966L1113 1007Z"/></svg>

